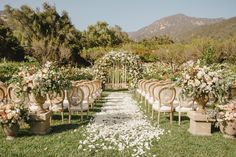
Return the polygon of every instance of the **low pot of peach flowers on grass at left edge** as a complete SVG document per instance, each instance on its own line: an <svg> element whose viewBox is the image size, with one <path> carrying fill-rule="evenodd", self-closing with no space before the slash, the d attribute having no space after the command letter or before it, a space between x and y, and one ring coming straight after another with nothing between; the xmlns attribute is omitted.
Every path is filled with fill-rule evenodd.
<svg viewBox="0 0 236 157"><path fill-rule="evenodd" d="M0 108L0 123L8 140L17 136L19 122L28 118L28 110L21 105L6 104Z"/></svg>

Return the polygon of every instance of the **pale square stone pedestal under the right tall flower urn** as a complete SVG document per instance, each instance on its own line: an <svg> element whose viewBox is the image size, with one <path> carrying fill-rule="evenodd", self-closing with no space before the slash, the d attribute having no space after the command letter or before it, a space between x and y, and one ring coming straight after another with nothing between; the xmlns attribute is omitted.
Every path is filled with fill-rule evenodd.
<svg viewBox="0 0 236 157"><path fill-rule="evenodd" d="M196 111L189 111L188 117L190 118L190 126L188 131L193 135L210 136L211 124L214 119L209 119L204 113Z"/></svg>

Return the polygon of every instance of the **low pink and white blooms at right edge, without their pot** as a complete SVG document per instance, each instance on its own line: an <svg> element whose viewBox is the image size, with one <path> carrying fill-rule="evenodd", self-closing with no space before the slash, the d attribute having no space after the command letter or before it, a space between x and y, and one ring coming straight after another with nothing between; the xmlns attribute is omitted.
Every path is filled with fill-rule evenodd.
<svg viewBox="0 0 236 157"><path fill-rule="evenodd" d="M217 120L219 122L236 120L236 100L230 101L225 105L219 105L218 110Z"/></svg>

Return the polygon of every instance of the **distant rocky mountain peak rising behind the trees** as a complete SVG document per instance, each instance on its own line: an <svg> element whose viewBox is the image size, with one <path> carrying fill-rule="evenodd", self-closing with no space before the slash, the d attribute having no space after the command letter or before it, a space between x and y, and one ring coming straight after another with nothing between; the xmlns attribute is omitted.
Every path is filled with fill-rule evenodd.
<svg viewBox="0 0 236 157"><path fill-rule="evenodd" d="M135 41L162 35L167 35L174 40L178 40L182 34L190 32L197 27L219 23L224 20L223 18L196 18L184 14L176 14L157 20L146 27L128 34Z"/></svg>

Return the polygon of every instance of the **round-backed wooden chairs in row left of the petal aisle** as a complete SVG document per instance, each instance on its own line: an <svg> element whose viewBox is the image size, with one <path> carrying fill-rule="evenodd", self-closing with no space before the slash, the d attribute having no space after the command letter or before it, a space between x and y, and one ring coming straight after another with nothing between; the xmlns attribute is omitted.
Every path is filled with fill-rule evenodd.
<svg viewBox="0 0 236 157"><path fill-rule="evenodd" d="M24 104L29 107L31 112L36 112L38 110L36 102L24 93L17 93L18 90L19 88L14 85L9 85L7 87L1 83L0 103ZM100 98L101 93L101 81L73 81L70 90L48 93L43 108L52 112L60 112L62 122L64 122L65 111L68 111L69 113L69 123L71 122L72 114L76 112L81 113L81 119L83 120L83 112L86 111L88 115L89 109L93 108L96 100Z"/></svg>

